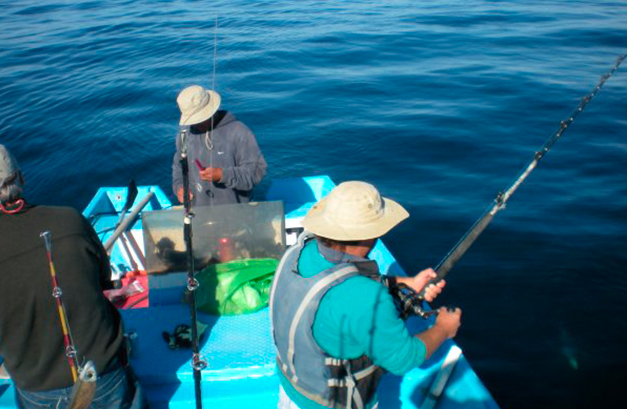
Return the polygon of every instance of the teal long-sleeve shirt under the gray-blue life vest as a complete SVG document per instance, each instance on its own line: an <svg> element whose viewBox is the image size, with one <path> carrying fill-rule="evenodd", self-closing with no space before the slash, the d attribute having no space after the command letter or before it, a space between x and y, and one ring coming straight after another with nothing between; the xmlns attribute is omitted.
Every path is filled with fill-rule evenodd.
<svg viewBox="0 0 627 409"><path fill-rule="evenodd" d="M298 271L303 277L311 277L333 265L312 240L301 253ZM320 348L333 357L353 359L366 354L376 365L396 375L409 372L425 360L425 345L409 334L387 287L363 276L351 277L324 295L313 335ZM300 395L279 375L287 395L301 409L324 408Z"/></svg>

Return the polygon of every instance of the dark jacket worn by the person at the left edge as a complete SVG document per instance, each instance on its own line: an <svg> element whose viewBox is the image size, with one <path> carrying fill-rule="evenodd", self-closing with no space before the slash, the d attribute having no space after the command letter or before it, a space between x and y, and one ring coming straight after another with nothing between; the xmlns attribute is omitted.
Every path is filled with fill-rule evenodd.
<svg viewBox="0 0 627 409"><path fill-rule="evenodd" d="M50 268L40 233L52 234L52 255L79 362L99 374L118 362L120 314L102 293L107 255L91 225L69 207L37 206L0 215L0 355L18 388L72 386Z"/></svg>

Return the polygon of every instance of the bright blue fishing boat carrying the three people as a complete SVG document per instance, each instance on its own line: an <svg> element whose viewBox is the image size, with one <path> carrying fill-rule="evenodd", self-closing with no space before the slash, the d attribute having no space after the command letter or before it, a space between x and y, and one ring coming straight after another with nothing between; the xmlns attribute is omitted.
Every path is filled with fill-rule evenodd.
<svg viewBox="0 0 627 409"><path fill-rule="evenodd" d="M273 204L275 212L278 209L280 221L277 223L275 217L269 223L274 223L273 228L279 232L273 240L281 243L281 251L295 241L302 230L300 221L307 211L334 186L327 176L283 179L270 184L264 201L259 203ZM114 233L127 193L124 187L100 188L83 212L103 243ZM192 351L184 347L172 348L164 337L164 333L171 334L180 325L190 324L189 305L182 302L186 274L176 263L163 268L163 260L157 257L163 253L157 245L163 241L158 240L160 232L170 229L169 238L182 236L183 210L173 207L158 186L140 186L138 200L127 215L129 223L124 233L111 247L113 278L124 285L115 290L117 293L108 295L119 302L131 364L146 391L150 407L194 407ZM257 211L258 205L235 206ZM210 224L211 228L216 226L214 219L207 220L199 223ZM215 237L207 239L202 233L196 234L196 230L195 240L194 248L199 253L209 251L207 248L216 242ZM177 239L172 238L172 241ZM175 255L176 249L176 245L171 248ZM214 250L220 249L211 251ZM280 253L276 257L280 257ZM382 274L405 275L381 240L370 258L379 263ZM139 271L148 271L148 274ZM268 308L239 315L198 312L198 321L206 326L199 344L201 359L206 363L201 371L203 406L276 408L279 381ZM413 332L419 332L432 322L410 318L407 325ZM452 341L404 377L385 375L379 399L380 408L498 408ZM0 408L14 407L14 390L5 375L0 379Z"/></svg>

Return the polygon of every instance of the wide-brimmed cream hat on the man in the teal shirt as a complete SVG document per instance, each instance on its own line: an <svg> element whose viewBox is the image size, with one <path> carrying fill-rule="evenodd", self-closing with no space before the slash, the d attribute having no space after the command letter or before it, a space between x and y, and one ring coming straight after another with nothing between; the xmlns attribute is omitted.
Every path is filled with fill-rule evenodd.
<svg viewBox="0 0 627 409"><path fill-rule="evenodd" d="M320 200L303 219L303 227L320 237L339 241L383 236L409 217L393 200L365 182L344 182Z"/></svg>

